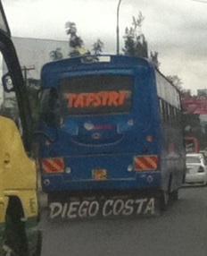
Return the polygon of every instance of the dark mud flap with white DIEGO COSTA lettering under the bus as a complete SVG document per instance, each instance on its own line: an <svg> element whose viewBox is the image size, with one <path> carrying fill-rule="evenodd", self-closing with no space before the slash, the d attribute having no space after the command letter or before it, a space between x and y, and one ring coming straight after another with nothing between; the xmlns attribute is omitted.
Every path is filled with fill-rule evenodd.
<svg viewBox="0 0 207 256"><path fill-rule="evenodd" d="M159 215L158 192L110 192L73 196L59 193L48 196L48 218L53 221Z"/></svg>

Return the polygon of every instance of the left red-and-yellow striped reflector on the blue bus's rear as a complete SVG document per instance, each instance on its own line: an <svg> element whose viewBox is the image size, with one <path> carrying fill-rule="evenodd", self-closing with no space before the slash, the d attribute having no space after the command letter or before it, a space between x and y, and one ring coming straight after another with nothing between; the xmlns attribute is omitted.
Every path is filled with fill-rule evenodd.
<svg viewBox="0 0 207 256"><path fill-rule="evenodd" d="M63 158L45 158L42 160L42 168L46 173L63 173Z"/></svg>

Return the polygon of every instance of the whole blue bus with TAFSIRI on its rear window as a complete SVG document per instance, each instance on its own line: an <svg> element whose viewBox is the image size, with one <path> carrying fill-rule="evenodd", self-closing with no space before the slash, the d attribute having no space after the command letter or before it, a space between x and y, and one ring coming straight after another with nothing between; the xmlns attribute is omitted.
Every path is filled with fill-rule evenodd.
<svg viewBox="0 0 207 256"><path fill-rule="evenodd" d="M152 63L79 56L45 64L41 83L49 218L153 215L178 199L186 165L180 97Z"/></svg>

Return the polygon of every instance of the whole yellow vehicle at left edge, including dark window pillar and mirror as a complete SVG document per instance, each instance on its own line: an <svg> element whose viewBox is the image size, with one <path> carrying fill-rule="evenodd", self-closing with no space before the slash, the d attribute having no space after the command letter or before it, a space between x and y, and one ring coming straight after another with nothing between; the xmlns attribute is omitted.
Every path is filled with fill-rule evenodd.
<svg viewBox="0 0 207 256"><path fill-rule="evenodd" d="M4 91L13 95L12 100L13 97L17 100L13 109L18 110L21 121L19 131L19 125L12 120L15 118L1 115L1 107L0 256L37 256L41 251L41 234L37 226L37 170L31 158L29 100L1 1L0 77ZM14 114L15 111L12 117Z"/></svg>

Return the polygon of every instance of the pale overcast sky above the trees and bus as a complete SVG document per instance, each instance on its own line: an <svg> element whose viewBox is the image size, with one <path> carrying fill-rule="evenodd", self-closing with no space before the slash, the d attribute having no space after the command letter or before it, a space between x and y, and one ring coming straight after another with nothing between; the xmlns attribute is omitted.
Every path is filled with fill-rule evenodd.
<svg viewBox="0 0 207 256"><path fill-rule="evenodd" d="M14 37L68 40L65 23L73 21L85 47L100 38L104 53L116 53L119 0L3 0ZM149 51L159 52L161 73L178 75L195 94L207 89L207 0L122 0L120 52L132 16L145 16L142 31Z"/></svg>

